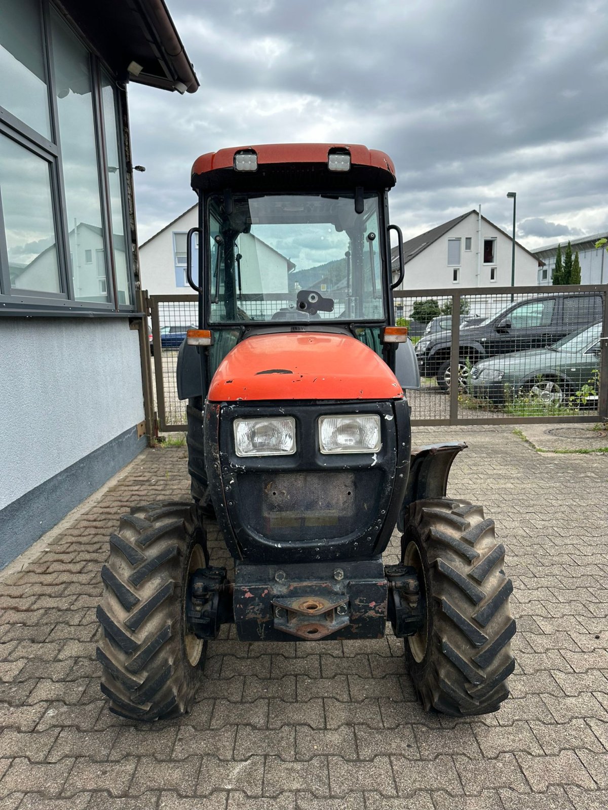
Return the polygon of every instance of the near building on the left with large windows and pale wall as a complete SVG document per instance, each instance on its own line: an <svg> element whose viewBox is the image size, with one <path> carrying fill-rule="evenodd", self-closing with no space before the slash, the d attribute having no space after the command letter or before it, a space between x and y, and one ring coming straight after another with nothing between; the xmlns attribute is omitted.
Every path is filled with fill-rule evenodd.
<svg viewBox="0 0 608 810"><path fill-rule="evenodd" d="M0 568L152 434L126 86L195 92L176 42L156 0L2 0Z"/></svg>

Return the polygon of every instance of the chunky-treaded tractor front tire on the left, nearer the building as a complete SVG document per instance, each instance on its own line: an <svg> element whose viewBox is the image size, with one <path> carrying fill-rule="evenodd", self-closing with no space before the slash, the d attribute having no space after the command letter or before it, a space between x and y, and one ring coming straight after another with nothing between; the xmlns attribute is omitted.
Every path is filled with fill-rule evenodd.
<svg viewBox="0 0 608 810"><path fill-rule="evenodd" d="M175 717L194 702L207 642L188 633L186 587L208 553L191 514L181 501L136 507L110 537L97 659L109 710L122 717Z"/></svg>

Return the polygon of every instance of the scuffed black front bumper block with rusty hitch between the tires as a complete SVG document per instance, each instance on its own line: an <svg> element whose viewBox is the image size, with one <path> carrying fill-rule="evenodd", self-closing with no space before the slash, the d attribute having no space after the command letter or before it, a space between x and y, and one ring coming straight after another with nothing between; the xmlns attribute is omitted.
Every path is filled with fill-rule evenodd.
<svg viewBox="0 0 608 810"><path fill-rule="evenodd" d="M387 619L383 563L238 562L233 606L243 642L381 638Z"/></svg>

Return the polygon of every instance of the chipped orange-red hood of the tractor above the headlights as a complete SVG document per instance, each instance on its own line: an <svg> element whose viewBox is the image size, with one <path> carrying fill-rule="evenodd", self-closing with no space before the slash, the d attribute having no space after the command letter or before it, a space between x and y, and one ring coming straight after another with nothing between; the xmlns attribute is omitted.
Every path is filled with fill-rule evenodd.
<svg viewBox="0 0 608 810"><path fill-rule="evenodd" d="M382 358L349 335L280 332L238 343L213 376L208 399L403 399L403 391Z"/></svg>

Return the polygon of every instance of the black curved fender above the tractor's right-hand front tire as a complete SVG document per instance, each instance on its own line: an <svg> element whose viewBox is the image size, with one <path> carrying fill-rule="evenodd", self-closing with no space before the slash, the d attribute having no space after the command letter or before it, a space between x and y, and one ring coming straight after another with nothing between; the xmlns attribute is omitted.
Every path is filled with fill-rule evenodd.
<svg viewBox="0 0 608 810"><path fill-rule="evenodd" d="M465 441L446 441L443 444L412 448L408 485L397 517L399 531L403 531L405 511L413 501L446 496L447 477L452 463L466 446Z"/></svg>

